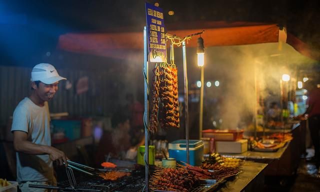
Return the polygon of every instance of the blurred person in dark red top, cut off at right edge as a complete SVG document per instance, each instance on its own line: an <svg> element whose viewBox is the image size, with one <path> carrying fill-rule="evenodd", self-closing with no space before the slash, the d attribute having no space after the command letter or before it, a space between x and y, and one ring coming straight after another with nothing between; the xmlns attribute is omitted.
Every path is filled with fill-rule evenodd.
<svg viewBox="0 0 320 192"><path fill-rule="evenodd" d="M320 165L320 88L314 80L305 82L304 87L308 90L307 109L303 115L308 116L309 130L312 144L314 146L314 156L310 159Z"/></svg>

